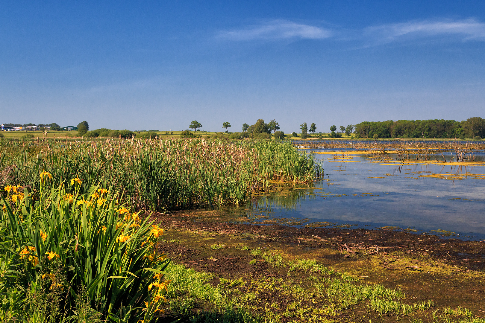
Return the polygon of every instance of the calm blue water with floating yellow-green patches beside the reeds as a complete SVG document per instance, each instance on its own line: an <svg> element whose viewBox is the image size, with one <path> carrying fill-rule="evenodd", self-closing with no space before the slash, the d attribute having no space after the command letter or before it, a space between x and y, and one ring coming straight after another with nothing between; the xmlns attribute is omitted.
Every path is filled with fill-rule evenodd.
<svg viewBox="0 0 485 323"><path fill-rule="evenodd" d="M349 161L328 161L331 154L316 156L324 159L325 180L313 185L282 186L268 196L252 197L251 203L232 208L231 213L261 224L392 226L397 230L485 239L485 165L389 165L386 161L371 162L361 155L352 155ZM485 155L480 154L478 160L485 161ZM434 174L481 174L484 179L423 177Z"/></svg>

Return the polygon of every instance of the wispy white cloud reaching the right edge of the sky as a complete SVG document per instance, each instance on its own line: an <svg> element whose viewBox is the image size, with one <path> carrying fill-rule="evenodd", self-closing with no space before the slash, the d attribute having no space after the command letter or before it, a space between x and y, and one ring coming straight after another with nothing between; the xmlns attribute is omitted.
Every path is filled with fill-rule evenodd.
<svg viewBox="0 0 485 323"><path fill-rule="evenodd" d="M461 40L485 40L485 23L473 18L409 21L367 27L364 29L364 36L384 43L433 36L454 36Z"/></svg>

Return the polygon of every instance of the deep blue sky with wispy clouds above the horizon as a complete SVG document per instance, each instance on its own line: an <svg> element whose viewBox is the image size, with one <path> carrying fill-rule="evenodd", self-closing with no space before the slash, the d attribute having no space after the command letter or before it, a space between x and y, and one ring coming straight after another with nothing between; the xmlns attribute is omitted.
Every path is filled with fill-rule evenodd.
<svg viewBox="0 0 485 323"><path fill-rule="evenodd" d="M485 117L485 1L1 1L0 48L0 123Z"/></svg>

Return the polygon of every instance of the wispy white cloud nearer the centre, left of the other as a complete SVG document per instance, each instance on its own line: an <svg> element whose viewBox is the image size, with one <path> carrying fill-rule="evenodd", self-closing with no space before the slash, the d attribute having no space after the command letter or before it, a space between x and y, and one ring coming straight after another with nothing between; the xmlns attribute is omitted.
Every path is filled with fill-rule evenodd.
<svg viewBox="0 0 485 323"><path fill-rule="evenodd" d="M220 31L219 38L233 41L279 40L279 39L323 39L332 36L332 31L289 20L271 20L243 29Z"/></svg>

